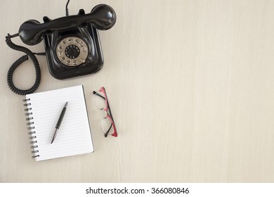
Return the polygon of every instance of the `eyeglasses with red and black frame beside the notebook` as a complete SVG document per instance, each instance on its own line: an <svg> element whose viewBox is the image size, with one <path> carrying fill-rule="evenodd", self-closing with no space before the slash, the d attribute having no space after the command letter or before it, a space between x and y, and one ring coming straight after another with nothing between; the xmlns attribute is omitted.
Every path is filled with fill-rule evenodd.
<svg viewBox="0 0 274 197"><path fill-rule="evenodd" d="M101 87L98 92L93 91L95 95L94 102L96 108L99 110L105 110L107 115L101 120L101 130L105 134L105 137L108 135L118 136L115 122L112 117L112 113L110 110L110 103L107 100L107 93L105 92L105 87Z"/></svg>

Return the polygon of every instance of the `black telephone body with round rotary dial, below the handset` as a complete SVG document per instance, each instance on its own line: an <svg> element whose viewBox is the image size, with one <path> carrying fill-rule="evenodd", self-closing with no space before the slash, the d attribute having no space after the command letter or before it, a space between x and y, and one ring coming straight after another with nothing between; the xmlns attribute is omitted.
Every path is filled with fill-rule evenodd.
<svg viewBox="0 0 274 197"><path fill-rule="evenodd" d="M58 80L91 75L103 67L98 30L91 23L46 32L44 45L48 70Z"/></svg>

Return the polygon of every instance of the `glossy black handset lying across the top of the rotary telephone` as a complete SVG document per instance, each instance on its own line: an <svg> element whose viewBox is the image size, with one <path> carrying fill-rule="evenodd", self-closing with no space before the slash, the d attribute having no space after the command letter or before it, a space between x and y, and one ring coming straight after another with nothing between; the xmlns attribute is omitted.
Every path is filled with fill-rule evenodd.
<svg viewBox="0 0 274 197"><path fill-rule="evenodd" d="M76 27L83 23L92 23L98 30L109 30L116 22L114 9L105 4L95 6L91 13L83 15L68 15L46 23L39 23L37 20L27 20L19 28L19 36L27 45L39 44L44 38L46 31L64 30Z"/></svg>

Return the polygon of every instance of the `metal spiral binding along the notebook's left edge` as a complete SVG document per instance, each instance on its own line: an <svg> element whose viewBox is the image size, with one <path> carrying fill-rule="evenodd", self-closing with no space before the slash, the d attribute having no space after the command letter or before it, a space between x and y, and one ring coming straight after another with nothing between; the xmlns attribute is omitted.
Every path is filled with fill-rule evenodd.
<svg viewBox="0 0 274 197"><path fill-rule="evenodd" d="M37 158L39 157L40 155L37 154L39 153L39 150L37 150L38 146L36 145L37 144L37 136L35 136L35 131L33 131L33 129L35 129L35 127L33 126L34 125L34 122L33 122L33 117L32 117L32 108L30 106L32 106L32 103L30 103L30 98L27 98L27 99L22 99L22 101L26 102L25 104L23 104L25 108L25 115L27 116L26 120L27 120L27 129L31 130L30 132L28 132L27 134L30 135L29 139L30 139L30 144L32 144L32 146L30 146L30 148L34 149L34 151L31 151L31 153L33 154L32 155L32 158Z"/></svg>

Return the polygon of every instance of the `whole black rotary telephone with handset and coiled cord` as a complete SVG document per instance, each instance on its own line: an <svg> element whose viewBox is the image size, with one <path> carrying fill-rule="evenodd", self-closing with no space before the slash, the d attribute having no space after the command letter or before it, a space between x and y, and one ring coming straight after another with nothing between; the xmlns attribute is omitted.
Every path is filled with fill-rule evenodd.
<svg viewBox="0 0 274 197"><path fill-rule="evenodd" d="M67 5L70 0L67 1ZM6 44L27 55L15 61L8 70L8 87L16 94L32 94L41 81L39 62L35 55L46 55L48 70L56 79L67 79L96 73L103 66L103 53L98 30L109 30L116 22L116 13L110 6L99 4L91 13L79 10L78 15L67 15L51 20L44 17L44 23L27 20L19 28L18 34L6 36ZM20 37L27 45L39 44L44 39L46 53L32 53L24 46L11 42L11 38ZM21 90L13 84L13 72L21 63L30 58L34 64L36 79L30 89Z"/></svg>

